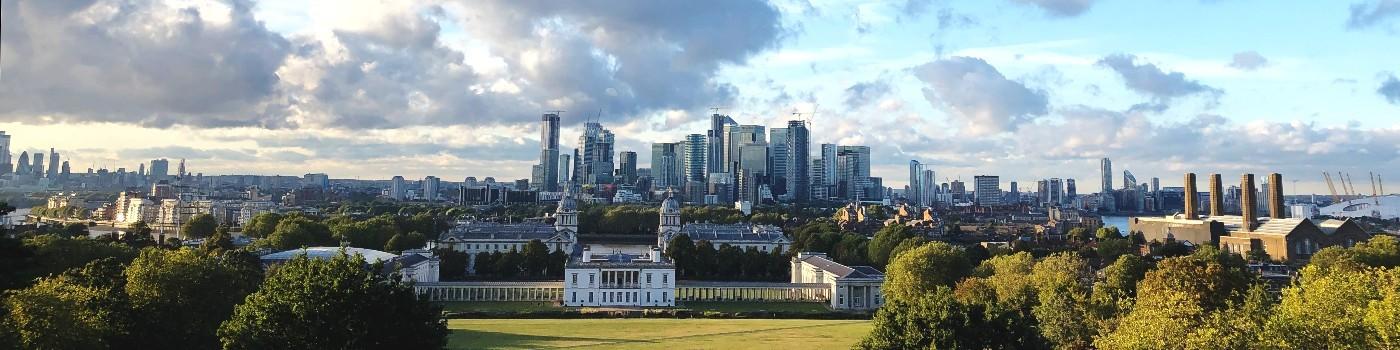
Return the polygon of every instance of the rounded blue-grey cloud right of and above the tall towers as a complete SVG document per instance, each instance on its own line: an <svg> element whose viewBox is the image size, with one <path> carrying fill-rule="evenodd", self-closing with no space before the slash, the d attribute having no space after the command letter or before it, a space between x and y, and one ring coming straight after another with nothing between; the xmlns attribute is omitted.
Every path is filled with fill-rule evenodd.
<svg viewBox="0 0 1400 350"><path fill-rule="evenodd" d="M914 67L914 77L924 83L924 98L972 136L1015 130L1049 108L1044 91L1008 80L977 57L930 62Z"/></svg>

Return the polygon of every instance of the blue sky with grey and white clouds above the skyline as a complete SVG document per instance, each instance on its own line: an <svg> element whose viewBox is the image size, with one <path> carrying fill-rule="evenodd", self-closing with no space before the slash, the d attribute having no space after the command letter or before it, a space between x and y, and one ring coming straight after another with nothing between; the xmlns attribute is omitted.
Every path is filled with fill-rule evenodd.
<svg viewBox="0 0 1400 350"><path fill-rule="evenodd" d="M792 118L907 183L1400 174L1400 0L0 1L0 130L87 168L529 178ZM1203 175L1204 176L1204 175ZM1295 182L1296 181L1296 182ZM1400 185L1397 185L1400 186ZM1368 190L1369 192L1369 190Z"/></svg>

